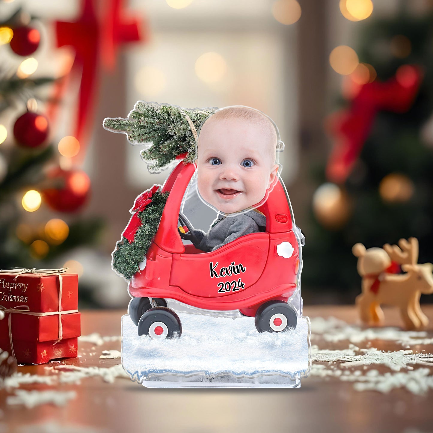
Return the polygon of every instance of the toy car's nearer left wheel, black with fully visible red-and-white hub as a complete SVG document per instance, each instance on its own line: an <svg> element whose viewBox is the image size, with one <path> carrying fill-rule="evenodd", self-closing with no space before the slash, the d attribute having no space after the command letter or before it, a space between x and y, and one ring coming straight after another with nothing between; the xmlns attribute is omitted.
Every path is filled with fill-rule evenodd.
<svg viewBox="0 0 433 433"><path fill-rule="evenodd" d="M149 335L154 340L179 338L181 334L181 320L167 307L147 310L138 323L138 335Z"/></svg>

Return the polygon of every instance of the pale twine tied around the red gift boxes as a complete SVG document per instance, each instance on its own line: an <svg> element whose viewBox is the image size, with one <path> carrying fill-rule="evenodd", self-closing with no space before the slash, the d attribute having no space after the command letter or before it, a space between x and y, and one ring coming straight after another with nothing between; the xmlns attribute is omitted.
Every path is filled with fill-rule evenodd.
<svg viewBox="0 0 433 433"><path fill-rule="evenodd" d="M61 315L62 314L71 314L78 313L78 310L65 310L61 311L61 294L63 289L63 277L61 274L64 274L68 268L60 268L60 269L36 269L36 268L13 268L13 269L1 269L0 274L16 274L14 280L16 280L20 275L24 274L35 274L35 275L57 275L59 280L59 293L58 293L58 311L48 311L45 313L35 313L30 311L28 305L18 305L13 308L6 308L3 305L0 305L0 320L3 320L7 314L8 316L8 331L9 331L9 342L10 342L10 351L12 352L12 356L16 358L15 351L13 350L13 342L12 342L12 313L15 314L27 314L30 316L54 316L58 315L58 339L53 343L53 346L63 339L63 325L61 324Z"/></svg>

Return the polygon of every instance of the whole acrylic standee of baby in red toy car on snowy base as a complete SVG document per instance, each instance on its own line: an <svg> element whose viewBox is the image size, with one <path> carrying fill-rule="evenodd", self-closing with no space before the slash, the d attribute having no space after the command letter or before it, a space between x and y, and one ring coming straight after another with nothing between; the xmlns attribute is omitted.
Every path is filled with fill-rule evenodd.
<svg viewBox="0 0 433 433"><path fill-rule="evenodd" d="M251 107L139 101L105 129L142 145L163 185L136 198L113 251L131 301L122 365L149 388L298 388L311 365L275 123ZM145 169L144 165L144 169Z"/></svg>

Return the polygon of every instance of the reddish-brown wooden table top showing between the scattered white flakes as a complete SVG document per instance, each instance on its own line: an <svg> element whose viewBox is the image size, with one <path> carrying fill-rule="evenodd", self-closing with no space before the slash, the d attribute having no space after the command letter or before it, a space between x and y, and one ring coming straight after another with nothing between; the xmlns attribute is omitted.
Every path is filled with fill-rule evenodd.
<svg viewBox="0 0 433 433"><path fill-rule="evenodd" d="M424 305L423 310L430 318L429 336L433 336L433 305ZM120 310L84 311L81 334L120 335L120 317L124 313ZM333 316L348 323L358 321L354 307L305 307L304 314L311 318ZM387 325L401 324L396 312L387 311L386 316ZM348 342L318 343L318 340L313 343L320 349L342 349L349 345ZM396 342L375 340L373 343L373 347L382 350L402 349ZM108 342L92 349L93 346L92 343L79 343L81 357L66 360L66 363L100 367L120 363L120 359L99 359L103 349L120 350L120 342ZM431 345L411 349L433 353ZM19 371L50 374L45 367L23 366ZM375 368L381 370L378 366ZM389 371L385 367L382 370ZM433 368L430 370L433 373ZM48 385L39 384L21 385L20 388L50 389ZM83 426L77 430L65 427L55 431L83 433L433 431L433 390L422 396L404 389L394 389L388 394L355 391L352 382L334 377L310 376L302 380L300 389L148 389L125 378L117 378L109 384L99 377L84 378L80 385L57 385L55 389L74 390L77 397L63 407L44 404L26 409L6 405L6 397L13 394L13 389L10 392L0 390L0 432L36 431L26 428L32 423L48 420L61 425Z"/></svg>

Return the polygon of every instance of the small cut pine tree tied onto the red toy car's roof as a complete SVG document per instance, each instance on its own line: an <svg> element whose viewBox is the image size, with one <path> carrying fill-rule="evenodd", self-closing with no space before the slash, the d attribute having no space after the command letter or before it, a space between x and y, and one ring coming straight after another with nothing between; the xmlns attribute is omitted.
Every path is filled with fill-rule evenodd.
<svg viewBox="0 0 433 433"><path fill-rule="evenodd" d="M187 153L184 162L194 161L196 142L186 116L198 131L216 110L182 109L139 101L127 119L106 118L103 126L112 132L125 133L132 144L149 143L149 147L142 150L142 157L149 163L149 169L159 169L184 153Z"/></svg>

